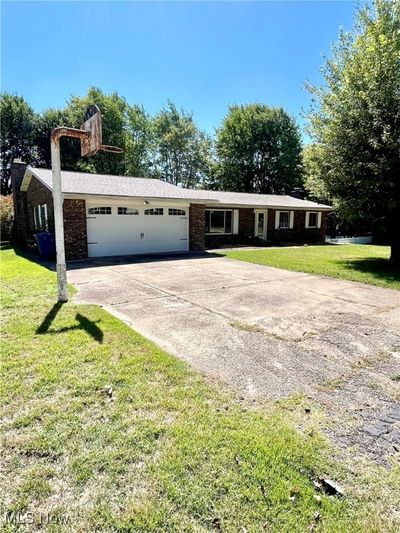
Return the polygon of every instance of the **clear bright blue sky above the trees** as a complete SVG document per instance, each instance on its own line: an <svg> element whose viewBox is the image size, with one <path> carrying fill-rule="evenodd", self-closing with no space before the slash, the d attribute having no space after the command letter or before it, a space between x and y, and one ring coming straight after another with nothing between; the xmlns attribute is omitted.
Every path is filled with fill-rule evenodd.
<svg viewBox="0 0 400 533"><path fill-rule="evenodd" d="M90 85L213 133L229 104L283 106L303 125L323 54L354 2L2 2L2 90L36 109Z"/></svg>

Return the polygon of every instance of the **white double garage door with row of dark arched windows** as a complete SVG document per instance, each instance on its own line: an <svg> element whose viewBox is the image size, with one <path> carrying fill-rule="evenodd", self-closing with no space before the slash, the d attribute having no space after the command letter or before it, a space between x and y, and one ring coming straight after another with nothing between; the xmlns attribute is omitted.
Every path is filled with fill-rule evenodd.
<svg viewBox="0 0 400 533"><path fill-rule="evenodd" d="M188 250L188 207L86 204L89 257Z"/></svg>

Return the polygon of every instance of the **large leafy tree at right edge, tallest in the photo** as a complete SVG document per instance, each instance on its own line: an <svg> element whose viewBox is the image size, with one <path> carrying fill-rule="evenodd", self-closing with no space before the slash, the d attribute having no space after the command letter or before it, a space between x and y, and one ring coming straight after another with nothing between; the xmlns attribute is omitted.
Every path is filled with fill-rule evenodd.
<svg viewBox="0 0 400 533"><path fill-rule="evenodd" d="M349 220L385 227L400 265L400 4L360 9L323 75L323 87L309 87L319 175Z"/></svg>

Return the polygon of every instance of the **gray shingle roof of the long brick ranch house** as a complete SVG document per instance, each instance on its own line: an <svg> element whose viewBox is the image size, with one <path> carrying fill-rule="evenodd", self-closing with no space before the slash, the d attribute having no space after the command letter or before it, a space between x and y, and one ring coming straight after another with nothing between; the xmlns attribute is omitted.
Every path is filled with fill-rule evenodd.
<svg viewBox="0 0 400 533"><path fill-rule="evenodd" d="M21 185L22 190L26 190L29 186L31 175L39 179L49 189L52 189L53 178L50 169L28 167ZM63 170L61 172L61 181L62 190L65 194L160 198L166 200L180 199L204 201L205 203L225 206L331 209L328 205L300 200L287 195L183 189L171 183L151 178L111 176L108 174L89 174L87 172L67 172Z"/></svg>

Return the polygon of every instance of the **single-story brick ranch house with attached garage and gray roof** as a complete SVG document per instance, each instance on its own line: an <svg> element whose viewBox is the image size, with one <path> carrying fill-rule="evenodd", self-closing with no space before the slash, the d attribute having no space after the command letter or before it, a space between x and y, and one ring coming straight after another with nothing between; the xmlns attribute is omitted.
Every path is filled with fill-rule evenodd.
<svg viewBox="0 0 400 533"><path fill-rule="evenodd" d="M18 240L53 230L51 170L12 168ZM62 171L68 259L233 244L322 243L331 207L291 196L182 189L126 176Z"/></svg>

